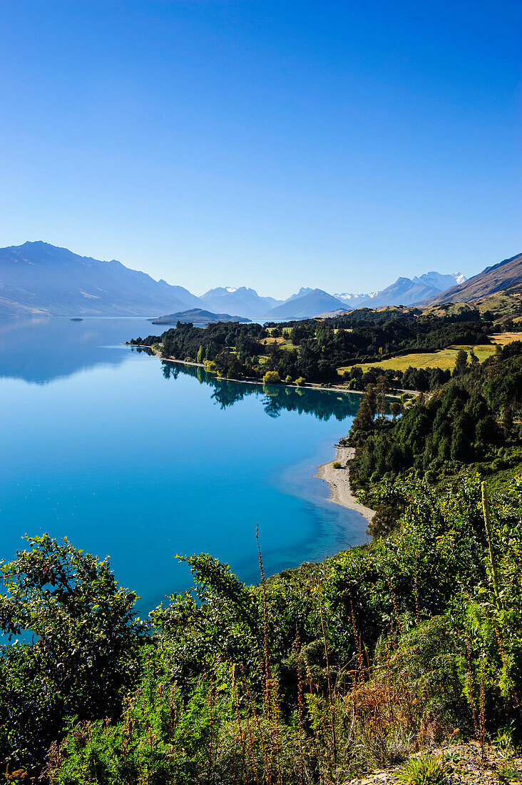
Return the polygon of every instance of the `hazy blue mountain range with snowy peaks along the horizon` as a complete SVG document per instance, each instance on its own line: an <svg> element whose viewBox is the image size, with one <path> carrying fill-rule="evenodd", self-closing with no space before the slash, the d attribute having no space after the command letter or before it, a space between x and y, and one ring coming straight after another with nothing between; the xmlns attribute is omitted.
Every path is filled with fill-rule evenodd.
<svg viewBox="0 0 522 785"><path fill-rule="evenodd" d="M203 309L254 319L306 319L384 305L467 302L522 280L522 254L467 281L461 273L401 276L371 294L329 294L301 287L287 300L247 287L217 287L201 297L121 262L82 257L49 243L0 249L0 316L152 316ZM209 317L211 318L211 317Z"/></svg>

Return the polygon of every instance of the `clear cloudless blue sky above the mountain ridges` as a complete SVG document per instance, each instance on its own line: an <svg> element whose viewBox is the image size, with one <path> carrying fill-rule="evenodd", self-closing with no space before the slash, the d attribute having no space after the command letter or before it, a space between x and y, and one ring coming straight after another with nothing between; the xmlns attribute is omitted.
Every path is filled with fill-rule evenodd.
<svg viewBox="0 0 522 785"><path fill-rule="evenodd" d="M195 294L522 250L522 3L0 0L0 246Z"/></svg>

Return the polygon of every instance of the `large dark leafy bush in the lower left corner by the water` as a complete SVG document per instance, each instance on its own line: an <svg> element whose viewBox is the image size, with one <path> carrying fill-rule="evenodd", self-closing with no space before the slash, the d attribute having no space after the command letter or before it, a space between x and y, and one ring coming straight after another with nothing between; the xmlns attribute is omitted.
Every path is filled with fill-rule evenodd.
<svg viewBox="0 0 522 785"><path fill-rule="evenodd" d="M31 550L19 550L1 567L0 630L8 641L0 656L4 769L38 769L68 717L118 717L140 674L144 626L133 619L137 595L118 586L108 560L67 539L43 535L27 542Z"/></svg>

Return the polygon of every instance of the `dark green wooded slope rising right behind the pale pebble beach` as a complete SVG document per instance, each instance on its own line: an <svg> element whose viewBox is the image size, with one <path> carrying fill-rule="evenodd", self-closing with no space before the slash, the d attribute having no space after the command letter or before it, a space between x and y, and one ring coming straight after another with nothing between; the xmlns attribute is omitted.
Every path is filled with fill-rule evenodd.
<svg viewBox="0 0 522 785"><path fill-rule="evenodd" d="M498 346L484 363L459 355L451 380L411 402L398 419L376 416L386 378L367 385L347 442L356 447L352 486L378 509L373 534L394 525L408 476L444 487L473 468L505 489L522 474L522 341Z"/></svg>

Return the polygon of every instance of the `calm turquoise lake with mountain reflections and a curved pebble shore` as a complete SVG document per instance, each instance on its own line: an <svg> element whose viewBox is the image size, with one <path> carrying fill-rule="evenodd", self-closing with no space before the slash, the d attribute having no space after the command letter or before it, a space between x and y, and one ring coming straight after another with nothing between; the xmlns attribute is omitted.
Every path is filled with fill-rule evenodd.
<svg viewBox="0 0 522 785"><path fill-rule="evenodd" d="M157 329L157 328L156 328ZM122 341L146 319L0 319L0 558L24 533L110 555L148 611L191 585L176 553L265 572L366 542L367 523L327 501L360 396L219 382Z"/></svg>

